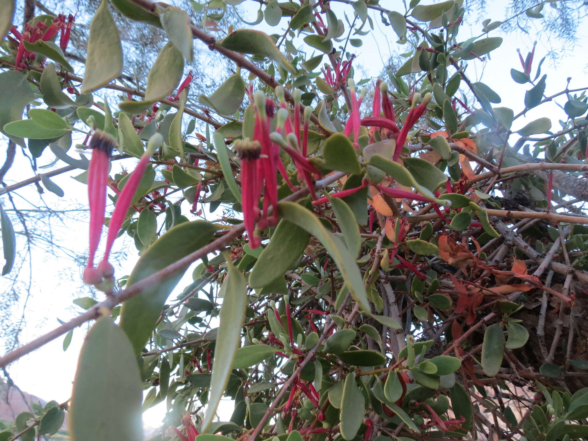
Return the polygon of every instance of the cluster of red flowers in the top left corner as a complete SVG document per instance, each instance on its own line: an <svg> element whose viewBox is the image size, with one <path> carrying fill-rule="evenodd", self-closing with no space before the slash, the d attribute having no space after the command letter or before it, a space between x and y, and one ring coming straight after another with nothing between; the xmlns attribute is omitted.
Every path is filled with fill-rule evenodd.
<svg viewBox="0 0 588 441"><path fill-rule="evenodd" d="M42 21L37 21L35 25L26 23L22 34L18 32L16 26L12 26L11 34L15 36L18 42L18 49L16 50L15 70L20 71L26 69L26 61L34 59L34 52L29 52L25 49L25 41L28 43L35 43L41 41L52 41L57 33L61 30L61 38L59 39L59 48L65 52L69 43L69 34L75 17L71 14L66 18L64 14L59 14L51 25L47 26Z"/></svg>

